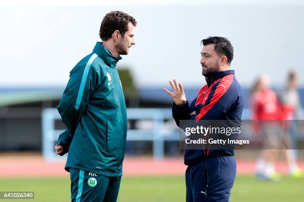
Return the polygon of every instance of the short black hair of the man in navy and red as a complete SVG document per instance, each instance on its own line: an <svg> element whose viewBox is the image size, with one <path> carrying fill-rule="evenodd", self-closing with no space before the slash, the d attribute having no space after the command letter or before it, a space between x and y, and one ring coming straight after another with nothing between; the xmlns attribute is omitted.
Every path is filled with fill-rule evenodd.
<svg viewBox="0 0 304 202"><path fill-rule="evenodd" d="M229 40L225 37L208 37L207 39L203 39L201 41L201 45L206 46L209 44L214 44L214 51L218 55L225 55L227 57L227 63L231 64L233 59L233 47Z"/></svg>

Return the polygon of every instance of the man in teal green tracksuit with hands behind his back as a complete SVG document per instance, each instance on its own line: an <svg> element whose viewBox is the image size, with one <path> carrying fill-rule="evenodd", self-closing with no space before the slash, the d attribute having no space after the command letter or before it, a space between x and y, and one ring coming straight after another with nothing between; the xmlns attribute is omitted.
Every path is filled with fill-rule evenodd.
<svg viewBox="0 0 304 202"><path fill-rule="evenodd" d="M116 202L127 137L126 103L116 69L135 45L136 20L121 11L103 18L93 52L70 72L58 111L67 130L55 151L67 152L73 202Z"/></svg>

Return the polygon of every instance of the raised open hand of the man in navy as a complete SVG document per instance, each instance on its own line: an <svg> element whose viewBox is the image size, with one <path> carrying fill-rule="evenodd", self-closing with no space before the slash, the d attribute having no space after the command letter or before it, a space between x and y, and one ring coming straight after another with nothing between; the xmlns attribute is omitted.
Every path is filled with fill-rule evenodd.
<svg viewBox="0 0 304 202"><path fill-rule="evenodd" d="M171 81L169 81L169 84L173 90L173 92L167 90L166 88L164 88L163 90L169 95L171 96L172 100L174 101L174 103L178 106L181 106L183 104L186 103L187 99L186 99L186 95L183 89L183 85L181 83L177 83L175 79L173 79L174 85Z"/></svg>

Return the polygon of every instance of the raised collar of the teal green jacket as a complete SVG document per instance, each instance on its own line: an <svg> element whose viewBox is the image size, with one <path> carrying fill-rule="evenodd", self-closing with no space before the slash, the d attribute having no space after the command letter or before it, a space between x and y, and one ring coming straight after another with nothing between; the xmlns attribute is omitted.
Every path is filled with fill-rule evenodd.
<svg viewBox="0 0 304 202"><path fill-rule="evenodd" d="M122 59L121 56L115 57L111 54L111 52L102 45L102 42L97 42L93 52L98 54L107 64L111 67L115 67L116 63Z"/></svg>

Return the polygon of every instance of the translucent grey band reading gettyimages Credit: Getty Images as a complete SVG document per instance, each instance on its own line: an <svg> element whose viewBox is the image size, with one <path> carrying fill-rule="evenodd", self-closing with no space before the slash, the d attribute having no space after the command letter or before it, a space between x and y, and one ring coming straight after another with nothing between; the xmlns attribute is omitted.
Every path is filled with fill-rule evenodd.
<svg viewBox="0 0 304 202"><path fill-rule="evenodd" d="M304 140L304 130L300 127L294 139L289 132L293 124L291 120L181 120L180 149L303 149L298 143Z"/></svg>

